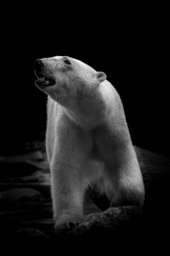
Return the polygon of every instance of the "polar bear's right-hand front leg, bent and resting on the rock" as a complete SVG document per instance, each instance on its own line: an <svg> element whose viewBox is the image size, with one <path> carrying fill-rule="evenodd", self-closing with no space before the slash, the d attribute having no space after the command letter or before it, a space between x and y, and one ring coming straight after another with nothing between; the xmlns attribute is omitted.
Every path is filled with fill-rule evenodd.
<svg viewBox="0 0 170 256"><path fill-rule="evenodd" d="M99 156L105 162L103 178L110 207L142 207L145 188L128 130L98 128L94 134ZM101 189L103 190L103 189Z"/></svg>

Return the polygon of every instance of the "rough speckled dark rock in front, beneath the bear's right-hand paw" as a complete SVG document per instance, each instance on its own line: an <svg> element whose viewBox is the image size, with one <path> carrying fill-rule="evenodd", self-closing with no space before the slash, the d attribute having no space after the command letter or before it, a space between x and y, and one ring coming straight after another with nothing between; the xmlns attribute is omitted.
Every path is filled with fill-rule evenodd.
<svg viewBox="0 0 170 256"><path fill-rule="evenodd" d="M136 206L112 207L101 213L89 214L81 224L68 232L66 243L78 244L87 251L91 248L96 253L101 250L106 253L111 247L115 253L128 252L133 246L140 248L146 228L143 225L144 216L145 213Z"/></svg>

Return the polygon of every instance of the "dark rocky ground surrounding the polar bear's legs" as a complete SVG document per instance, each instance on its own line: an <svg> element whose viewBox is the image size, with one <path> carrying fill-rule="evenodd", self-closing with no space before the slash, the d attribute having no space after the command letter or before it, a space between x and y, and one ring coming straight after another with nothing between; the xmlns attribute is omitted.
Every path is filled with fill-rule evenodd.
<svg viewBox="0 0 170 256"><path fill-rule="evenodd" d="M146 199L142 210L135 206L108 207L95 184L84 201L85 219L72 230L55 235L50 197L50 172L44 143L28 143L24 154L0 157L0 241L5 244L43 245L87 249L104 248L131 252L146 247L163 250L170 228L170 159L135 147ZM90 199L98 206L95 206ZM101 210L103 210L101 212ZM38 246L39 247L39 246Z"/></svg>

